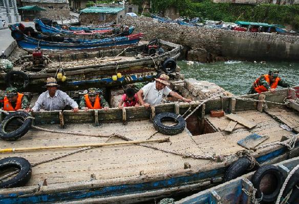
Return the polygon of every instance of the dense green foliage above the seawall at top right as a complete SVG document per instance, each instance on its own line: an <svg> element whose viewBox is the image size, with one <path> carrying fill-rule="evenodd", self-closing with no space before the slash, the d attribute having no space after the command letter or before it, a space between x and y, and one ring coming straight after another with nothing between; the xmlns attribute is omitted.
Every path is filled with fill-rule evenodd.
<svg viewBox="0 0 299 204"><path fill-rule="evenodd" d="M299 27L299 5L241 5L229 3L189 2L186 9L180 9L182 16L208 18L214 21L249 21Z"/></svg>

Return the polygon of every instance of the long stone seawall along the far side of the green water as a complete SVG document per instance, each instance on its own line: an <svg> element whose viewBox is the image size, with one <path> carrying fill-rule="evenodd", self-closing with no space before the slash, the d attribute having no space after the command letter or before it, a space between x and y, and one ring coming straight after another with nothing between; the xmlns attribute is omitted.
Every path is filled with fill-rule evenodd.
<svg viewBox="0 0 299 204"><path fill-rule="evenodd" d="M299 36L180 26L147 17L122 19L120 23L135 26L135 32L144 33L144 40L160 38L183 45L183 56L188 60L299 61Z"/></svg>

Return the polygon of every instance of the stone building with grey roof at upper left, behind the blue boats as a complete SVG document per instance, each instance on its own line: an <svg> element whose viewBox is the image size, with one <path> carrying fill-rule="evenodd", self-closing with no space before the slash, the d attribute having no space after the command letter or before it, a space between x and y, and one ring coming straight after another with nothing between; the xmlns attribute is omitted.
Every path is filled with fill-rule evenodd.
<svg viewBox="0 0 299 204"><path fill-rule="evenodd" d="M23 7L36 5L45 8L46 11L39 11L40 17L43 18L61 19L70 17L68 0L21 0L21 3Z"/></svg>

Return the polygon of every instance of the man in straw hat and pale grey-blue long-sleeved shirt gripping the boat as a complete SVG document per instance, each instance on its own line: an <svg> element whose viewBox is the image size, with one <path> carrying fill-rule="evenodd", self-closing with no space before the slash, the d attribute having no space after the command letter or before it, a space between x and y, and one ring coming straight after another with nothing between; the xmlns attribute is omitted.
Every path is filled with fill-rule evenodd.
<svg viewBox="0 0 299 204"><path fill-rule="evenodd" d="M74 112L79 110L78 104L75 100L73 100L65 92L57 90L59 85L55 78L47 78L46 87L47 91L40 94L31 111L39 111L40 109L44 109L46 111L62 110L67 105L71 106L74 109Z"/></svg>

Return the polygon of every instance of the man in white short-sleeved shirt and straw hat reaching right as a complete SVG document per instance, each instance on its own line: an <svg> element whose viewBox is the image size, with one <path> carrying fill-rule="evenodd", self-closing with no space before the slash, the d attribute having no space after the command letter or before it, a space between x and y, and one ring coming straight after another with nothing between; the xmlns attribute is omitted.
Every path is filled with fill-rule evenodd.
<svg viewBox="0 0 299 204"><path fill-rule="evenodd" d="M163 95L171 95L175 98L178 98L184 102L190 103L190 99L186 99L177 92L170 90L167 86L169 76L166 74L161 74L159 78L155 78L156 81L148 83L143 88L137 92L139 103L141 106L148 108L150 106L155 106L160 104L162 101Z"/></svg>

